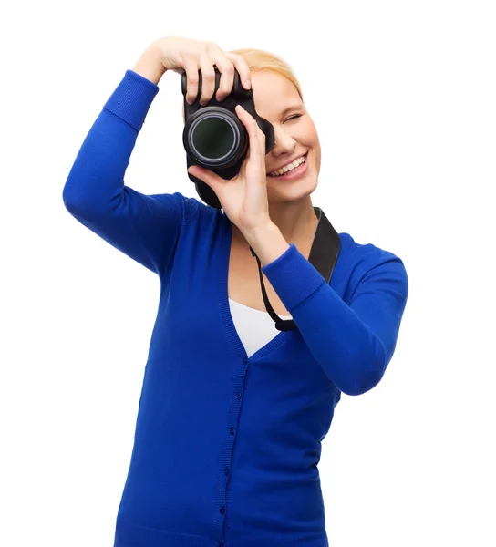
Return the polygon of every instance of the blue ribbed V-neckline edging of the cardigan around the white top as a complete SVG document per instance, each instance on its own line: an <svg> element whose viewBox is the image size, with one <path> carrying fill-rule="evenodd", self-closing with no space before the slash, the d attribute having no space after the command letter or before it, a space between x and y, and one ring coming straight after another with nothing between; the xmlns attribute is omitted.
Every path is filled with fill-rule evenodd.
<svg viewBox="0 0 496 547"><path fill-rule="evenodd" d="M284 342L289 339L292 331L281 331L279 334L275 335L274 338L269 340L267 344L255 351L252 356L248 356L246 349L243 346L243 342L238 335L236 326L234 325L233 315L229 304L229 263L231 260L231 245L233 243L233 224L224 214L222 214L222 217L225 222L225 232L222 234L224 237L222 237L222 244L220 245L222 260L218 262L220 264L220 273L217 277L219 281L222 323L235 352L242 358L247 358L250 361L258 361L263 356L267 356L273 352L274 349L282 346ZM262 287L260 287L260 290L262 291Z"/></svg>

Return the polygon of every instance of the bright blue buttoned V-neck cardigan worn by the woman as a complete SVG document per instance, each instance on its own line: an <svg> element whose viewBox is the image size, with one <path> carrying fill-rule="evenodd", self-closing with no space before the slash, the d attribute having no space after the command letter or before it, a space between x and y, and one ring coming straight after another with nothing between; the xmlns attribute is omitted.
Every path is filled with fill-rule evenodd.
<svg viewBox="0 0 496 547"><path fill-rule="evenodd" d="M291 243L263 274L297 329L247 358L228 301L229 219L124 185L158 92L126 71L63 191L78 222L160 277L114 547L325 547L321 441L341 392L376 386L393 356L404 264L340 232L327 284Z"/></svg>

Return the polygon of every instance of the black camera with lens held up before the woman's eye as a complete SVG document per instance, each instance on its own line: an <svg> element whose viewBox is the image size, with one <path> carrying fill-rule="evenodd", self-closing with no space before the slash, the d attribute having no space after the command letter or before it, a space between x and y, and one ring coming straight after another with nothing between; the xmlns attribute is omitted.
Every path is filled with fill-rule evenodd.
<svg viewBox="0 0 496 547"><path fill-rule="evenodd" d="M249 147L248 131L235 112L236 105L241 105L247 110L265 135L265 154L274 148L274 126L266 119L260 117L255 110L252 89L244 89L241 77L234 68L234 82L231 93L221 102L217 101L215 94L219 89L221 72L214 66L215 91L212 99L205 105L200 105L202 97L202 72L199 70L198 95L190 105L186 101L187 75L181 75L181 90L184 98L184 129L182 131L182 143L186 150L188 168L191 165L212 170L214 173L229 180L237 175L243 161L246 159ZM196 191L211 207L222 209L221 202L212 188L194 175L188 173L188 177L196 185Z"/></svg>

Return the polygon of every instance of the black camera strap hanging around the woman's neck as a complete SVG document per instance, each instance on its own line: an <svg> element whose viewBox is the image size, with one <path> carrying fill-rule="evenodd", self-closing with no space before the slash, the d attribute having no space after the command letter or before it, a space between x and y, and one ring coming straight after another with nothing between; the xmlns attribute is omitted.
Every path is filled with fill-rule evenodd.
<svg viewBox="0 0 496 547"><path fill-rule="evenodd" d="M308 262L315 266L315 269L321 274L325 282L328 284L331 275L333 274L334 267L337 261L337 255L341 247L341 239L336 232L334 226L329 222L325 213L320 207L314 207L315 215L318 218L317 227L315 230L314 241L312 248L310 249L310 255L308 256ZM250 247L252 255L256 258L258 263L258 272L260 274L260 284L262 285L263 302L269 315L273 318L275 328L280 331L292 330L296 327L293 319L281 319L279 315L274 312L274 309L269 302L267 292L265 291L265 284L263 283L262 264L260 259L254 253L252 247Z"/></svg>

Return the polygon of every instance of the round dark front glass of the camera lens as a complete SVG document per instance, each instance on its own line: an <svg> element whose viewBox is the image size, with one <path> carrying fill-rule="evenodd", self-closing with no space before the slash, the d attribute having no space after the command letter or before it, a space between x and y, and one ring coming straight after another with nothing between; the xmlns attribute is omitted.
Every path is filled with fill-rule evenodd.
<svg viewBox="0 0 496 547"><path fill-rule="evenodd" d="M217 115L207 115L191 127L191 148L202 159L223 160L233 150L235 142L233 125Z"/></svg>

